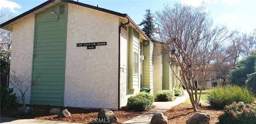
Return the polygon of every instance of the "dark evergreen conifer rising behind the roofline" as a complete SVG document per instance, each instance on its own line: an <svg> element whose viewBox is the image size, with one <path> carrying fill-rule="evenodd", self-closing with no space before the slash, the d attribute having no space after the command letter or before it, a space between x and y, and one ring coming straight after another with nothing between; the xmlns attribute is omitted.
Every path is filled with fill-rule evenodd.
<svg viewBox="0 0 256 124"><path fill-rule="evenodd" d="M144 15L144 20L142 20L142 22L140 24L138 24L139 26L144 26L144 28L142 28L142 31L144 31L144 33L152 40L154 37L154 33L156 33L156 28L154 25L154 16L153 14L150 12L150 9L146 10L146 14Z"/></svg>

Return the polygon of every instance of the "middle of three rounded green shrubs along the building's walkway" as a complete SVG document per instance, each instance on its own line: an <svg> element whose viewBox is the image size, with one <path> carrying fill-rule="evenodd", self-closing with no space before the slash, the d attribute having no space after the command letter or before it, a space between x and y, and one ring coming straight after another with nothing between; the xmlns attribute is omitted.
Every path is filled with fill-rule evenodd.
<svg viewBox="0 0 256 124"><path fill-rule="evenodd" d="M174 91L162 90L158 91L156 97L159 101L172 101L174 100Z"/></svg>

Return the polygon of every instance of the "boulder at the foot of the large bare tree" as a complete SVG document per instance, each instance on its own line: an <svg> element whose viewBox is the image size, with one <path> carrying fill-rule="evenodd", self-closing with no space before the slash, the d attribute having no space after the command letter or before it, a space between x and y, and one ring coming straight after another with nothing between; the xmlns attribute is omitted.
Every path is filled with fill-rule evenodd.
<svg viewBox="0 0 256 124"><path fill-rule="evenodd" d="M210 124L210 114L206 113L196 113L188 120L186 120L187 124Z"/></svg>

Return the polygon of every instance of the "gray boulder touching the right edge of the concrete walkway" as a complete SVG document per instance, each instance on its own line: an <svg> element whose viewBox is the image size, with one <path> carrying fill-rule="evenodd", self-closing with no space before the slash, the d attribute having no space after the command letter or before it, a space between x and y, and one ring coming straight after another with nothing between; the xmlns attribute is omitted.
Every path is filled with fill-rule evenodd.
<svg viewBox="0 0 256 124"><path fill-rule="evenodd" d="M150 124L167 124L167 116L162 112L156 112L151 118Z"/></svg>

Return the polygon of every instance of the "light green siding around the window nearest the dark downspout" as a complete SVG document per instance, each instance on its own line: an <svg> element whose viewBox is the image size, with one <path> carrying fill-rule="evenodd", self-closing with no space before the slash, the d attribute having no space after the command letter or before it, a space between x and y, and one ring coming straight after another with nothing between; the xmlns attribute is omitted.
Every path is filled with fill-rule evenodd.
<svg viewBox="0 0 256 124"><path fill-rule="evenodd" d="M139 33L134 28L129 27L129 52L128 52L128 89L139 88L139 74L133 73L134 52L139 53Z"/></svg>

